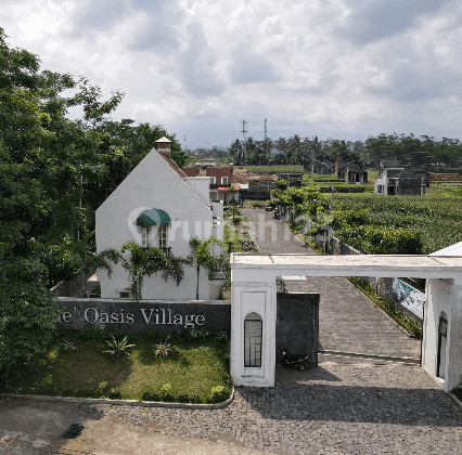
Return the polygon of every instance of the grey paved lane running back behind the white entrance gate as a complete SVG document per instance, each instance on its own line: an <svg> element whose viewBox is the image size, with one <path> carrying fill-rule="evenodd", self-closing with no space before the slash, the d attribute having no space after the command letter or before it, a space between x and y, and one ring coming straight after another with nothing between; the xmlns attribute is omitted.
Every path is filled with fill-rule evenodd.
<svg viewBox="0 0 462 455"><path fill-rule="evenodd" d="M315 253L282 221L275 220L272 211L244 209L242 213L248 218L251 234L260 252ZM410 338L346 278L308 277L304 284L287 282L287 288L320 294L320 351L419 360L420 341ZM358 362L355 358L347 361Z"/></svg>

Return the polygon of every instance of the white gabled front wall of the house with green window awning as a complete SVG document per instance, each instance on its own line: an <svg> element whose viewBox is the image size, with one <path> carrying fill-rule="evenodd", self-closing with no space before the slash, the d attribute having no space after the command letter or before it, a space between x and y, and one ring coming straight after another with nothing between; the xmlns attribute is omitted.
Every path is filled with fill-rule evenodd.
<svg viewBox="0 0 462 455"><path fill-rule="evenodd" d="M120 249L128 240L141 244L141 226L136 223L146 208L158 208L169 214L168 245L175 256L190 253L189 239L192 236L205 238L211 234L211 209L157 151L152 150L97 210L97 251ZM201 275L200 298L208 299L208 277L203 270ZM102 298L118 298L120 290L129 285L127 274L119 265L114 266L111 280L105 272L99 271L99 280ZM161 274L152 275L145 278L143 298L195 299L195 281L193 269L187 269L179 287L171 281L165 283Z"/></svg>

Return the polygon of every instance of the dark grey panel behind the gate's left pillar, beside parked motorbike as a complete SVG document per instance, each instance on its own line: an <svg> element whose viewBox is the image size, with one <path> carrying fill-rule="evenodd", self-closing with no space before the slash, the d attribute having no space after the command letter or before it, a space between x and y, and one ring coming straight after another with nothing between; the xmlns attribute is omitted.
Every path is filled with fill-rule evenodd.
<svg viewBox="0 0 462 455"><path fill-rule="evenodd" d="M293 355L309 355L318 364L319 294L283 294L277 297L275 356L285 346Z"/></svg>

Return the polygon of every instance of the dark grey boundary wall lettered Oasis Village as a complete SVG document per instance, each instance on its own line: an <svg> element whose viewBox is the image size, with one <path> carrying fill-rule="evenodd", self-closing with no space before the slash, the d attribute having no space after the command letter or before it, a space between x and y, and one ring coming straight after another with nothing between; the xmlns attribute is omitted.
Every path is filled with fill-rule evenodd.
<svg viewBox="0 0 462 455"><path fill-rule="evenodd" d="M231 304L224 300L163 302L125 299L59 298L65 310L59 327L127 332L178 332L204 328L210 334L231 332Z"/></svg>

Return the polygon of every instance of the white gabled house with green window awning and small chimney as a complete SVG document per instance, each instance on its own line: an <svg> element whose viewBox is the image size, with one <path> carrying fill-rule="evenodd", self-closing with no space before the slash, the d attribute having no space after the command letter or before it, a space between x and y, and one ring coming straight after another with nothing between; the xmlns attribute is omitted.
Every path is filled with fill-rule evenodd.
<svg viewBox="0 0 462 455"><path fill-rule="evenodd" d="M120 249L128 240L142 247L161 247L166 255L187 257L189 239L210 235L223 239L222 203L210 203L208 178L187 177L170 158L170 141L162 138L141 162L98 208L97 251ZM221 253L221 248L214 251ZM129 281L120 265L112 277L99 271L102 298L128 297ZM218 296L216 281L200 273L200 299ZM196 271L187 268L177 287L161 274L144 280L143 299L195 299Z"/></svg>

